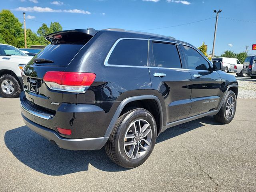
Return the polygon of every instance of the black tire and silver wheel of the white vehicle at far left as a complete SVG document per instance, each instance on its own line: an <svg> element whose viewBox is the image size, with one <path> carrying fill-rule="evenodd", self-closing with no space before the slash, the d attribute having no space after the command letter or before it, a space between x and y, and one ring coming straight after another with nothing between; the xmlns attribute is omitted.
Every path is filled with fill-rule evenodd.
<svg viewBox="0 0 256 192"><path fill-rule="evenodd" d="M2 97L16 98L20 95L20 83L10 74L4 74L0 77L0 86L0 96Z"/></svg>

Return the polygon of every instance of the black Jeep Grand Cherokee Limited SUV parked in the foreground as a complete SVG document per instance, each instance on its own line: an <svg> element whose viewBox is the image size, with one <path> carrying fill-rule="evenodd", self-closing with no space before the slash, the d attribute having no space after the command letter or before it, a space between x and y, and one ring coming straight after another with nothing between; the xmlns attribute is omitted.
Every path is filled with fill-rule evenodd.
<svg viewBox="0 0 256 192"><path fill-rule="evenodd" d="M67 30L22 71L26 125L68 150L105 146L133 168L172 126L213 115L229 123L238 83L194 46L172 37L121 29Z"/></svg>

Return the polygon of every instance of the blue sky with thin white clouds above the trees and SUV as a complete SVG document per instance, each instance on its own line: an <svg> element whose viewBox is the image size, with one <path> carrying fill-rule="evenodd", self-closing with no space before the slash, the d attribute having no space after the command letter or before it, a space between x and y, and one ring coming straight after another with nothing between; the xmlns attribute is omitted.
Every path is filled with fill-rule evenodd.
<svg viewBox="0 0 256 192"><path fill-rule="evenodd" d="M215 54L251 50L256 44L256 0L5 0L9 9L34 32L40 22L60 22L63 30L78 28L124 28L173 36L198 47L205 42L212 51L216 14L219 14ZM209 19L208 19L209 18ZM205 20L207 19L207 20ZM204 20L196 22L199 20ZM192 24L186 24L195 22ZM176 26L186 24L182 26ZM175 26L164 28L168 26ZM160 28L160 29L155 29ZM154 29L154 30L148 30Z"/></svg>

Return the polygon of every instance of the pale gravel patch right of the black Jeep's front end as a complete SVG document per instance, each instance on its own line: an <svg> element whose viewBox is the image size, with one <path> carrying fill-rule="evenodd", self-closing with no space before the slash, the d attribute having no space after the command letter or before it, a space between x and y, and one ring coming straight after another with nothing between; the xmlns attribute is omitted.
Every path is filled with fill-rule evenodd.
<svg viewBox="0 0 256 192"><path fill-rule="evenodd" d="M235 73L229 73L236 76ZM238 77L238 98L255 99L256 98L256 79L250 77Z"/></svg>

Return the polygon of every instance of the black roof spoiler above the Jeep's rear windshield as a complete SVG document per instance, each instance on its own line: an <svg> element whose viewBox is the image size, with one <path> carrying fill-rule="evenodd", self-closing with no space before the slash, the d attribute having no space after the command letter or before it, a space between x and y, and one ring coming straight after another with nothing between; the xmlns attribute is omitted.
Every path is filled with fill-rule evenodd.
<svg viewBox="0 0 256 192"><path fill-rule="evenodd" d="M94 36L99 31L95 30L94 28L57 31L57 32L53 32L53 33L46 35L45 39L49 42L54 42L56 39L58 39L58 35L67 34L67 33L71 33L71 32L84 33L84 34L88 34L90 36Z"/></svg>

